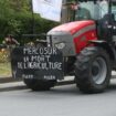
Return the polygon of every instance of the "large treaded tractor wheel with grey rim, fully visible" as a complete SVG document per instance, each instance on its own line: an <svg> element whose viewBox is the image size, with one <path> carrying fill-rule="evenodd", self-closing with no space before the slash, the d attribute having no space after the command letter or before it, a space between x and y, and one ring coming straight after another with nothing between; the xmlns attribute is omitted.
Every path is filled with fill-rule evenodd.
<svg viewBox="0 0 116 116"><path fill-rule="evenodd" d="M112 66L108 53L98 46L88 46L75 62L76 86L83 93L101 93L109 84Z"/></svg>

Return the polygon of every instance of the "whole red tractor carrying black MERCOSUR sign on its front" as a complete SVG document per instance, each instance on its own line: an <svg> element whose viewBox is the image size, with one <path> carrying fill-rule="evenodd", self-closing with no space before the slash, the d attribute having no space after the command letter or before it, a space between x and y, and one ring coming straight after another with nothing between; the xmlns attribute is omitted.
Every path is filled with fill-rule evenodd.
<svg viewBox="0 0 116 116"><path fill-rule="evenodd" d="M34 91L49 89L65 75L74 75L84 93L105 91L116 68L116 1L78 0L75 20L49 31L45 46L15 48L13 76L23 77ZM15 60L21 54L23 59Z"/></svg>

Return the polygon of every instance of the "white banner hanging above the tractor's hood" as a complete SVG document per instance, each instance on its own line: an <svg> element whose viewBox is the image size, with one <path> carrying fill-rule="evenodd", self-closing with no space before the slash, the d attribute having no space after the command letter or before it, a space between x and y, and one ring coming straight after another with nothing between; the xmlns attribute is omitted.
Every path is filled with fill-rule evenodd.
<svg viewBox="0 0 116 116"><path fill-rule="evenodd" d="M33 12L44 19L61 21L62 0L33 0Z"/></svg>

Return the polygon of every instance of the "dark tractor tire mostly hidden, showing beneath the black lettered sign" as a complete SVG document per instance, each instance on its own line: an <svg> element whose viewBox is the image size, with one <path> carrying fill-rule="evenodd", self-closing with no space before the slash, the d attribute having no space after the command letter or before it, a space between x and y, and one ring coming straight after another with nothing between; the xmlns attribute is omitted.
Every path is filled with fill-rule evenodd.
<svg viewBox="0 0 116 116"><path fill-rule="evenodd" d="M56 80L52 81L43 81L43 80L35 80L35 78L24 78L23 82L27 84L29 88L32 91L49 91L56 84Z"/></svg>

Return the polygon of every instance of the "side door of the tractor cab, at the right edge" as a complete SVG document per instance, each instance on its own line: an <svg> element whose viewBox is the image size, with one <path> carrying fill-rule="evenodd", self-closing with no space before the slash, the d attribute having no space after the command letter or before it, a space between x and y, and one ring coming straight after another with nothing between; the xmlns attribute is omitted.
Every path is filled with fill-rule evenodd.
<svg viewBox="0 0 116 116"><path fill-rule="evenodd" d="M116 41L116 1L99 2L98 38L107 42Z"/></svg>

